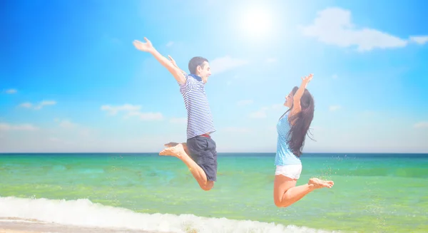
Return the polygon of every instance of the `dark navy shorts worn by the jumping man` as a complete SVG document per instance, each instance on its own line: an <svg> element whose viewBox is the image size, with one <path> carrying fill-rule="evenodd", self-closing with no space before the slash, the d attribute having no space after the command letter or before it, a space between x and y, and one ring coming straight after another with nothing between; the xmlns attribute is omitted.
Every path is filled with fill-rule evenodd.
<svg viewBox="0 0 428 233"><path fill-rule="evenodd" d="M187 147L192 157L205 172L207 180L217 180L217 151L213 138L202 135L188 138Z"/></svg>

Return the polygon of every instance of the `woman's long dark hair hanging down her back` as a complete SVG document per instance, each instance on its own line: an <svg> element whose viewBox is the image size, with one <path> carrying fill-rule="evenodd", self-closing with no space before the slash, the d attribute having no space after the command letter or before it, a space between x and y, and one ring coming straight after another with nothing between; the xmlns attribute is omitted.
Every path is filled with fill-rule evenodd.
<svg viewBox="0 0 428 233"><path fill-rule="evenodd" d="M292 94L295 95L297 90L298 88L297 86L295 86L292 89ZM300 106L302 107L300 113L292 115L291 118L288 118L288 121L290 123L290 131L287 133L287 145L292 151L292 153L297 157L300 157L300 155L302 155L302 149L305 146L305 138L309 130L310 123L312 123L312 119L314 118L314 98L312 98L312 95L307 89L305 89L305 92L303 93L302 98L300 99ZM292 107L293 105L289 110L284 113L284 115L288 111L292 110Z"/></svg>

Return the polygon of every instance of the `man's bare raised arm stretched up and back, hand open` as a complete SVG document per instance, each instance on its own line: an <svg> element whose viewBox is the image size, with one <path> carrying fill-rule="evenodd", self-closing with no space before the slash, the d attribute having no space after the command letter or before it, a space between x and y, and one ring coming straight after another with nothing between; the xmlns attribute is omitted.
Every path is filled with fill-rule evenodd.
<svg viewBox="0 0 428 233"><path fill-rule="evenodd" d="M161 53L159 53L156 48L153 47L151 41L149 41L146 37L144 37L144 40L146 43L143 43L141 41L133 41L133 45L136 46L136 48L140 51L151 53L156 60L161 63L162 66L164 66L170 73L174 76L175 80L178 81L178 83L185 83L185 76L183 72L178 68L176 64L173 64L171 61L169 61L167 58L162 56Z"/></svg>

